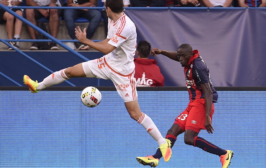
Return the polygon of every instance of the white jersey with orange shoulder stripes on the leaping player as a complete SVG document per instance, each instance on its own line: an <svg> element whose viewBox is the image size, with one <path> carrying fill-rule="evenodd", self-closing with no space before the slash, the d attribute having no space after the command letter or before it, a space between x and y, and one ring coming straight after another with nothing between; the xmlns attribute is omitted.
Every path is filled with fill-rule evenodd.
<svg viewBox="0 0 266 168"><path fill-rule="evenodd" d="M134 56L137 46L135 24L127 16L121 16L115 23L108 19L109 44L115 46L111 53L105 55L109 67L122 75L129 75L135 70Z"/></svg>

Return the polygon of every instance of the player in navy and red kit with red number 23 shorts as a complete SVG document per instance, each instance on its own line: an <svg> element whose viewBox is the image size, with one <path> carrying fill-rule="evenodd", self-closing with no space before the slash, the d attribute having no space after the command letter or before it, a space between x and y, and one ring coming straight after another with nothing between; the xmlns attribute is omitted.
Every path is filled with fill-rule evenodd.
<svg viewBox="0 0 266 168"><path fill-rule="evenodd" d="M153 56L162 54L172 60L179 61L184 67L190 102L187 108L175 119L174 124L167 132L166 138L171 141L171 148L176 141L176 137L185 132L184 139L186 144L220 156L222 167L227 168L234 153L230 150L221 149L198 137L200 130L207 130L208 133L213 133L213 102L217 102L218 99L218 94L210 79L209 68L199 55L198 50L193 51L189 44L182 44L177 52L153 48L151 54ZM137 157L136 159L142 165L156 167L161 157L161 151L158 149L155 155Z"/></svg>

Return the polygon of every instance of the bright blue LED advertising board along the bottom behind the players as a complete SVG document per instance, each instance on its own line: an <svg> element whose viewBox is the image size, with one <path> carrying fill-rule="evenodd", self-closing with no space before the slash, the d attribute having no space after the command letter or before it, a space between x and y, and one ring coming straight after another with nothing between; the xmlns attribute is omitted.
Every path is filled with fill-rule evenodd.
<svg viewBox="0 0 266 168"><path fill-rule="evenodd" d="M135 158L154 154L157 143L128 115L116 91L87 108L81 91L0 91L0 167L142 168ZM235 153L232 168L266 164L266 92L218 91L214 133L200 137ZM187 91L138 91L142 112L163 136L188 104ZM220 158L188 146L181 134L168 163L158 167L219 168Z"/></svg>

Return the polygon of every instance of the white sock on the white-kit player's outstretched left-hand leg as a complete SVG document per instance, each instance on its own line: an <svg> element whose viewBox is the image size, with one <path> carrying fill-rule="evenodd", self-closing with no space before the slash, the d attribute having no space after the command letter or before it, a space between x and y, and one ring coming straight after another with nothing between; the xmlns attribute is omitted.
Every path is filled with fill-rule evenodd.
<svg viewBox="0 0 266 168"><path fill-rule="evenodd" d="M61 71L56 71L56 72L52 73L51 75L47 76L46 78L44 78L42 82L38 83L39 86L36 89L42 90L46 87L49 87L52 85L57 85L59 83L64 82L65 80L69 79L65 75L65 69L62 69Z"/></svg>

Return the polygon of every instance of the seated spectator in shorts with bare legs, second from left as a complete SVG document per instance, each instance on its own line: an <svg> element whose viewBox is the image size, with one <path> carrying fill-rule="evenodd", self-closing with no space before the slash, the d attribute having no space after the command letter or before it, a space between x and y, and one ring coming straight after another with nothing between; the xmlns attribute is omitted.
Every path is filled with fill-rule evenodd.
<svg viewBox="0 0 266 168"><path fill-rule="evenodd" d="M61 6L59 0L26 0L28 6ZM32 24L36 25L36 20L46 17L49 19L49 29L50 34L56 38L59 30L59 15L61 14L61 9L26 9L26 19ZM30 33L31 39L36 39L36 31L32 27L28 26L28 31ZM39 50L40 45L38 42L34 42L30 47L30 50ZM51 50L58 50L57 44L55 42L50 43Z"/></svg>

